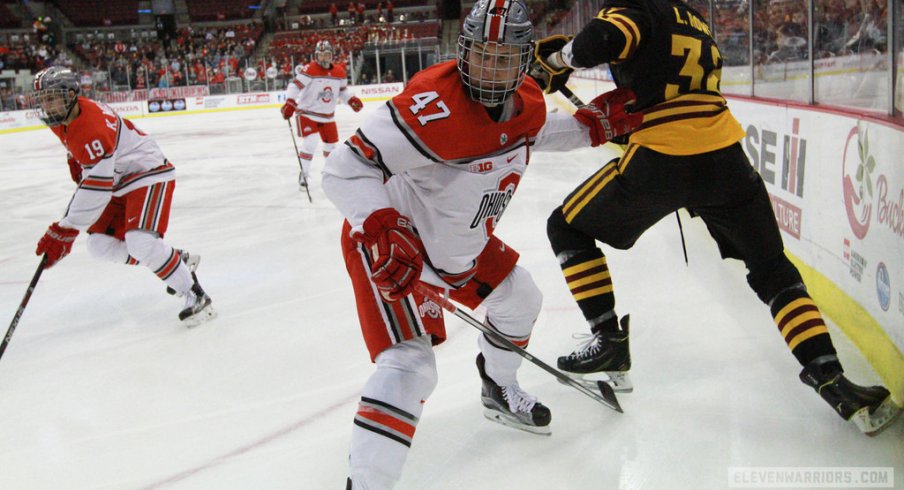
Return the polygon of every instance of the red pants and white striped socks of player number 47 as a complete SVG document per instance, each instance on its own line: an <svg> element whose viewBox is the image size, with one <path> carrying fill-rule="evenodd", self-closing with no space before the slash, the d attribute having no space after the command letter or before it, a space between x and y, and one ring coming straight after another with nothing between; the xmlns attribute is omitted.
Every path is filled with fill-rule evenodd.
<svg viewBox="0 0 904 490"><path fill-rule="evenodd" d="M431 344L445 340L442 309L417 293L384 302L370 281L369 257L343 232L343 254L355 290L365 343L376 371L362 393L355 417L349 462L353 488L391 488L401 475L424 400L436 385ZM518 254L492 237L477 259L469 283L451 292L469 308L483 305L486 323L519 346L526 346L540 312L542 295L530 273L516 266ZM487 374L512 384L521 356L478 339Z"/></svg>

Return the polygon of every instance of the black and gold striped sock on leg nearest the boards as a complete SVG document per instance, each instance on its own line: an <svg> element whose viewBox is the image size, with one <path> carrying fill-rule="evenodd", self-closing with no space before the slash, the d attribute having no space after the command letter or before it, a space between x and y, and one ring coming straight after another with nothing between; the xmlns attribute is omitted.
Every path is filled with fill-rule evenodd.
<svg viewBox="0 0 904 490"><path fill-rule="evenodd" d="M785 343L802 366L817 357L835 355L822 314L803 284L779 292L769 302L769 308Z"/></svg>

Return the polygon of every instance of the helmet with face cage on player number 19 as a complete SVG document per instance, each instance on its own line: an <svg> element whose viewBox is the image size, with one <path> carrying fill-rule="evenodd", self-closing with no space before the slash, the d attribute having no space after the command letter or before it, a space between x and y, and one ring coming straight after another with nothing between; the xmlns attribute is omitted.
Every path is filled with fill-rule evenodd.
<svg viewBox="0 0 904 490"><path fill-rule="evenodd" d="M35 75L30 108L44 124L58 126L75 108L81 87L69 69L50 67Z"/></svg>

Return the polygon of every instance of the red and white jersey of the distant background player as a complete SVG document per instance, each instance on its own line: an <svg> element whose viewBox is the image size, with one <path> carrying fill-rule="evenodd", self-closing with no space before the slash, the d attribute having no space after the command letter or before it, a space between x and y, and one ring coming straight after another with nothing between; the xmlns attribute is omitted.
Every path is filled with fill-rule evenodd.
<svg viewBox="0 0 904 490"><path fill-rule="evenodd" d="M286 88L286 98L298 104L296 113L316 122L332 122L337 100L348 103L352 95L345 66L338 63L330 68L309 63Z"/></svg>

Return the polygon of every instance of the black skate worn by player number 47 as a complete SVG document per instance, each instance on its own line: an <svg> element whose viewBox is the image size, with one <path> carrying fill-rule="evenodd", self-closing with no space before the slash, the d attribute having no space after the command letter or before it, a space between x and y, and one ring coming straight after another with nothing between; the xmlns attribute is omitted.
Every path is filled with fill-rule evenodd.
<svg viewBox="0 0 904 490"><path fill-rule="evenodd" d="M518 383L499 386L487 376L483 354L477 355L477 370L483 387L480 400L486 407L483 415L493 422L521 429L533 434L549 435L549 421L552 416L546 405L525 393Z"/></svg>

